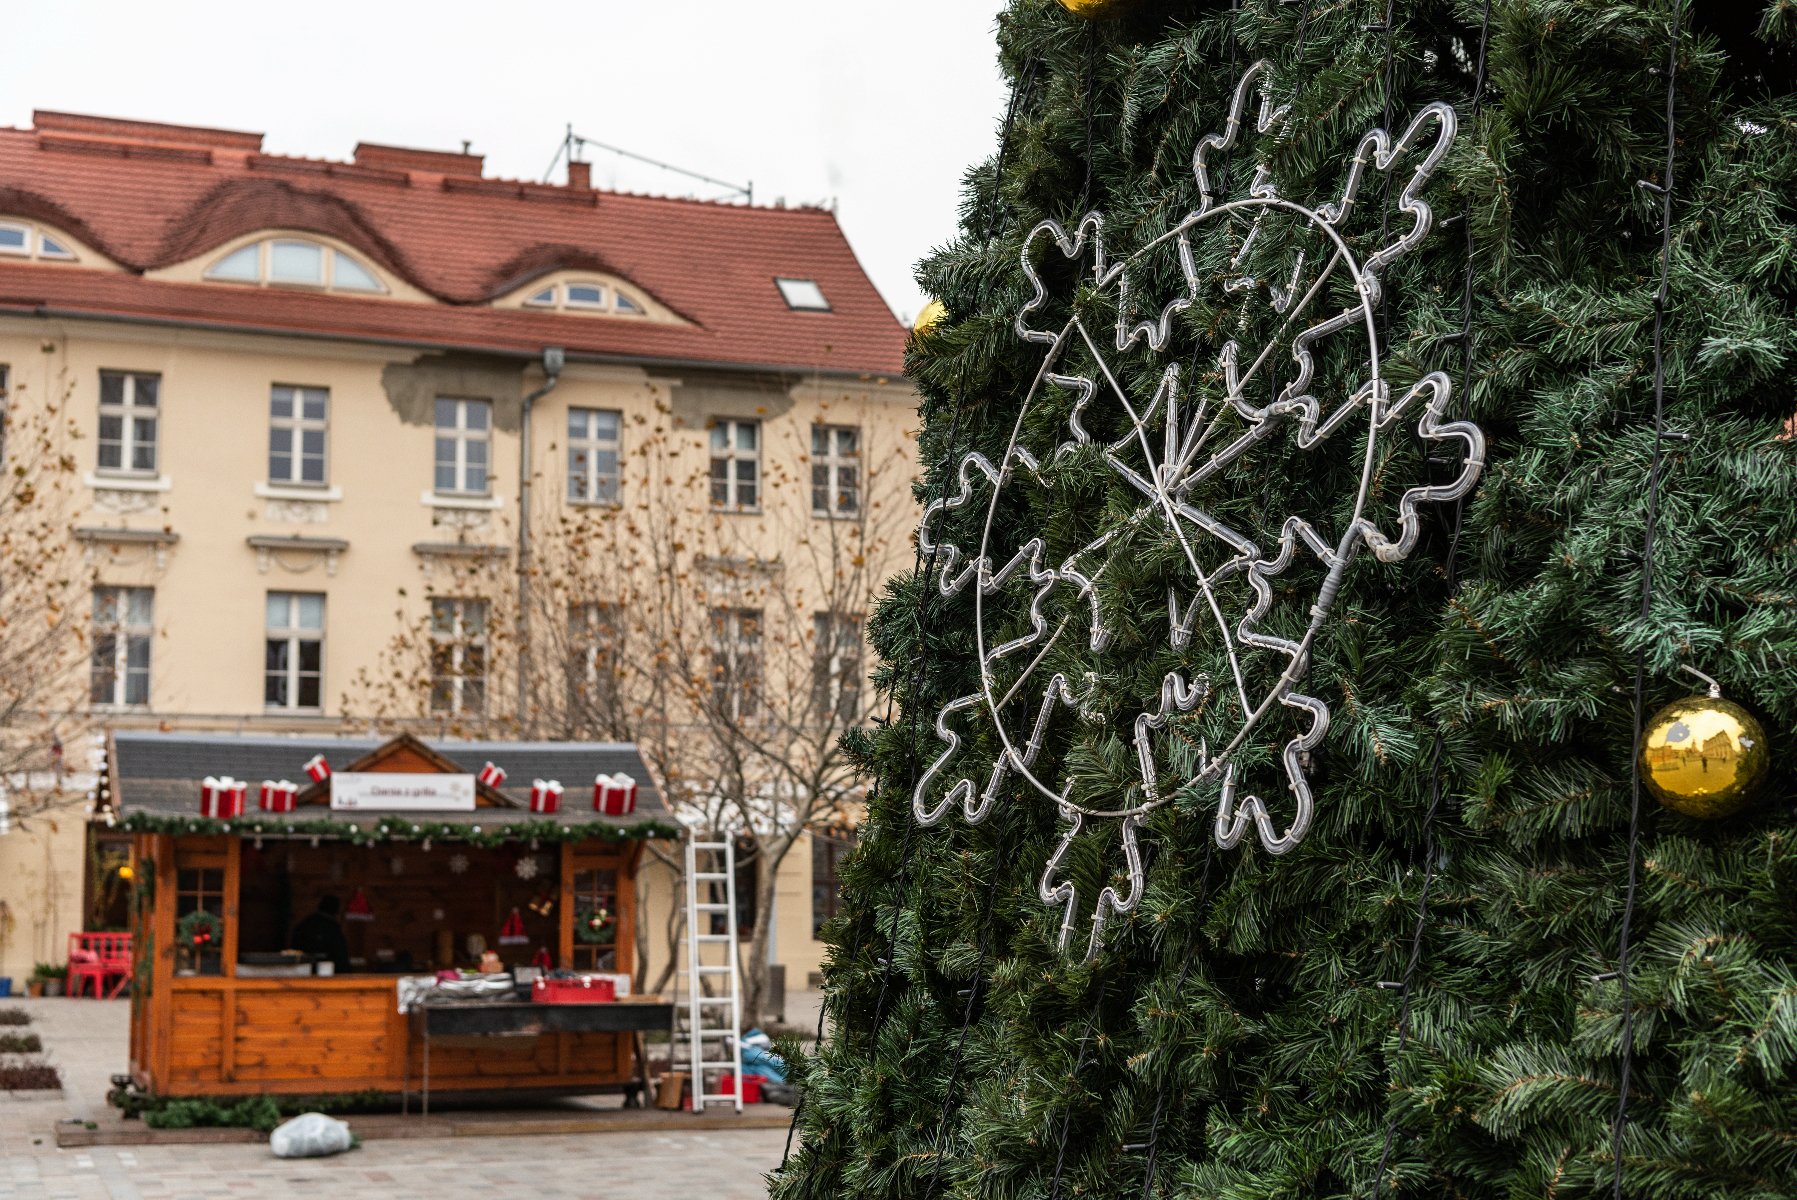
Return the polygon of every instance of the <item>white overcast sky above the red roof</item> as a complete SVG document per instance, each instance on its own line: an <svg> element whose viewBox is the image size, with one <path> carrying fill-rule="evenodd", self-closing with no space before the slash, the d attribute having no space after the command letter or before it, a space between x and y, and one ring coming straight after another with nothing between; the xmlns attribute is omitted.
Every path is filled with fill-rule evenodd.
<svg viewBox="0 0 1797 1200"><path fill-rule="evenodd" d="M7 14L0 124L31 110L266 133L279 154L356 142L460 149L541 180L573 122L757 203L836 199L893 311L954 234L961 171L1005 108L1001 0L58 0ZM719 196L589 151L600 187ZM557 167L555 181L561 181Z"/></svg>

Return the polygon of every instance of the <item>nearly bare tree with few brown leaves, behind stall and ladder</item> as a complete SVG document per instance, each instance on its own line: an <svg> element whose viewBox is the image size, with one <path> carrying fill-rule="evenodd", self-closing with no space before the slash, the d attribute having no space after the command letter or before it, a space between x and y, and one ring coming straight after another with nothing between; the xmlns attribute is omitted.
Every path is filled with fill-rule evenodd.
<svg viewBox="0 0 1797 1200"><path fill-rule="evenodd" d="M866 614L907 548L913 453L897 435L879 444L872 424L789 428L800 444L760 447L753 503L726 510L710 429L659 406L627 433L620 503L564 505L553 480L534 489L528 623L507 564L455 559L433 575L435 614L401 605L388 654L358 674L345 711L458 735L634 742L674 814L735 837L753 869L744 974L758 1022L780 866L807 830L852 823L861 801L841 737L864 713ZM828 437L841 442L814 458ZM482 645L456 659L444 602L474 596ZM509 650L521 625L532 677L519 690ZM453 702L469 693L453 684L469 665L483 672L480 710ZM523 711L507 704L516 695ZM668 945L651 990L672 961Z"/></svg>

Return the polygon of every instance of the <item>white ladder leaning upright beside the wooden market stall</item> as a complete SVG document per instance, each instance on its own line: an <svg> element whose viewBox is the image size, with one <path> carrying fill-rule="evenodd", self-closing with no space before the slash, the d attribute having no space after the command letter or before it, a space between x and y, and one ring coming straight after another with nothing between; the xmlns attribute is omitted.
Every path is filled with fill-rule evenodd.
<svg viewBox="0 0 1797 1200"><path fill-rule="evenodd" d="M704 887L701 887L701 884ZM710 900L710 884L721 884L722 900ZM701 895L706 898L701 900ZM724 932L712 932L713 914ZM703 1114L712 1101L731 1101L742 1112L742 974L737 963L737 846L686 839L686 913L681 922L683 954L674 966L674 1040L686 1044L692 1080L692 1110ZM676 1049L677 1053L677 1049ZM735 1090L719 1090L717 1076L731 1072Z"/></svg>

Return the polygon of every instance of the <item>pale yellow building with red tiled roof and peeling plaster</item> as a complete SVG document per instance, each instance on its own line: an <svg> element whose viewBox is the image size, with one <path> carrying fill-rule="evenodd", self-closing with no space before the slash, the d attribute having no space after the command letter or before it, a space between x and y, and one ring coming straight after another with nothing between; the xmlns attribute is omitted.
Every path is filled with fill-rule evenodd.
<svg viewBox="0 0 1797 1200"><path fill-rule="evenodd" d="M383 726L633 740L697 819L852 817L818 728L909 562L916 401L832 214L68 113L0 129L0 386L41 426L7 454L66 456L86 593L65 783L104 729ZM812 778L730 767L721 715ZM117 891L41 783L0 837L14 977ZM800 837L753 914L794 988L837 857Z"/></svg>

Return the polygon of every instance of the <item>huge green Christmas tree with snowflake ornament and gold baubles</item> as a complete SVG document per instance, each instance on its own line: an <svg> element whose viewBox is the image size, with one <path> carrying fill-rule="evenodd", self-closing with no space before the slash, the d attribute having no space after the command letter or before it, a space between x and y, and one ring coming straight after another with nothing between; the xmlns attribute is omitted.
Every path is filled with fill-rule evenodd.
<svg viewBox="0 0 1797 1200"><path fill-rule="evenodd" d="M1793 50L1001 16L775 1196L1792 1195ZM1651 794L1682 668L1732 816Z"/></svg>

